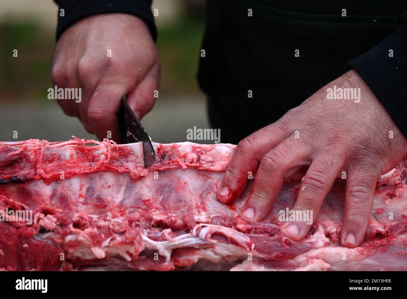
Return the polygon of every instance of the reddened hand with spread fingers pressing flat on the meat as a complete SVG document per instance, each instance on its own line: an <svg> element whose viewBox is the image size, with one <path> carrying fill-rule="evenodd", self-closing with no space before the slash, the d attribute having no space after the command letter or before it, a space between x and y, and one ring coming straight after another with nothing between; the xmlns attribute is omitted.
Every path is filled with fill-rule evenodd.
<svg viewBox="0 0 407 299"><path fill-rule="evenodd" d="M360 101L328 99L327 89L334 85L336 89L360 88ZM350 70L277 122L242 140L225 172L218 199L230 203L238 198L248 172L258 168L241 217L250 222L263 220L283 179L306 166L309 168L293 209L313 211L315 221L335 179L345 174L341 244L353 248L365 236L379 176L406 154L406 138L359 74ZM281 232L300 241L311 226L305 221L289 222Z"/></svg>

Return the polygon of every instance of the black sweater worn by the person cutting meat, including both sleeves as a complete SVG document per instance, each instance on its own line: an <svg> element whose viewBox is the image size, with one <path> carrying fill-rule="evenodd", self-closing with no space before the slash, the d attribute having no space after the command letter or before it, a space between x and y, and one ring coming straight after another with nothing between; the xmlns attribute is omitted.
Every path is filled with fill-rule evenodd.
<svg viewBox="0 0 407 299"><path fill-rule="evenodd" d="M151 0L56 2L65 9L57 39L77 20L98 13L136 15L157 37ZM239 142L276 121L349 68L361 75L407 136L407 4L274 2L208 0L206 56L200 57L198 78L208 94L212 126L228 136L222 142ZM247 98L248 90L253 98Z"/></svg>

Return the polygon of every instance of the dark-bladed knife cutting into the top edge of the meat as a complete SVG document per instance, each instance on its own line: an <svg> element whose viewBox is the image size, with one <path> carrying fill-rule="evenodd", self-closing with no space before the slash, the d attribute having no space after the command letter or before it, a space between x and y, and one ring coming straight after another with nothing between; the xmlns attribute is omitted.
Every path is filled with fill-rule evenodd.
<svg viewBox="0 0 407 299"><path fill-rule="evenodd" d="M126 96L121 100L120 110L117 116L119 119L122 143L141 142L143 146L144 167L149 168L155 163L156 159L153 144L151 144L146 130L144 130L133 110L131 110L129 104L127 104Z"/></svg>

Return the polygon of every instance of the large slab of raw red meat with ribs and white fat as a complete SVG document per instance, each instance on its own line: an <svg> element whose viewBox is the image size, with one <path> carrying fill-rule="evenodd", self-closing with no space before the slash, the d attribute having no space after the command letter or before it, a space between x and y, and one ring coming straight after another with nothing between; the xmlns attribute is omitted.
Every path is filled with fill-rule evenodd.
<svg viewBox="0 0 407 299"><path fill-rule="evenodd" d="M278 212L300 188L288 179L269 216L246 223L216 192L234 145L104 140L0 142L0 210L32 211L0 222L2 270L407 270L407 159L379 178L362 245L339 245L344 184L328 194L301 242L279 234Z"/></svg>

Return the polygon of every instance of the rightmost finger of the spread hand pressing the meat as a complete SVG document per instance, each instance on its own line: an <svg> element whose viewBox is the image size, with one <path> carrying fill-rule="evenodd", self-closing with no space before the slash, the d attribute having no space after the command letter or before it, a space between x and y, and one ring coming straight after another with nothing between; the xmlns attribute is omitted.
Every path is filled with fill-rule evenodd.
<svg viewBox="0 0 407 299"><path fill-rule="evenodd" d="M354 248L365 238L379 172L376 166L363 163L354 165L348 172L341 244Z"/></svg>

